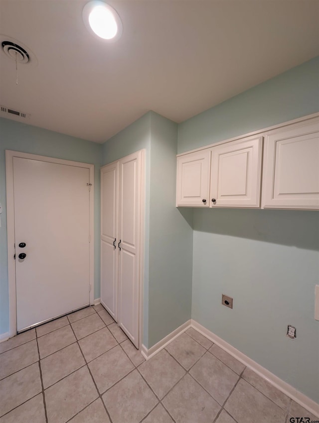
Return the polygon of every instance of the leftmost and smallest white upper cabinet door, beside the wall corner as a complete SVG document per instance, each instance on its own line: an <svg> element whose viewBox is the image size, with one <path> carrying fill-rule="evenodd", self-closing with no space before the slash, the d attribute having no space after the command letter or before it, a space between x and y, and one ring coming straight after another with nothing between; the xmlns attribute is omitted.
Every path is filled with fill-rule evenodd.
<svg viewBox="0 0 319 423"><path fill-rule="evenodd" d="M209 206L210 151L177 157L176 206Z"/></svg>

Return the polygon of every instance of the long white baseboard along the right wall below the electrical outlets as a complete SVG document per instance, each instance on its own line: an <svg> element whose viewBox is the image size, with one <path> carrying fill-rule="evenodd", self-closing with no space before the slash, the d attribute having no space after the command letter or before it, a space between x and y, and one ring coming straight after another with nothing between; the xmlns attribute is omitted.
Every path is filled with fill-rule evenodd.
<svg viewBox="0 0 319 423"><path fill-rule="evenodd" d="M214 342L216 345L228 352L230 355L232 355L238 361L243 363L245 366L252 369L259 376L271 383L275 388L279 389L288 397L296 401L296 403L300 404L306 410L319 417L319 404L317 404L315 401L307 397L305 394L302 394L301 392L297 391L296 388L292 387L287 382L284 382L278 376L274 375L269 370L256 363L256 361L252 360L247 355L243 354L238 349L234 348L228 342L224 341L222 338L215 335L213 332L206 329L206 327L197 323L197 321L193 319L191 319L191 327L196 329L202 335L206 336L206 338L210 339L212 342Z"/></svg>

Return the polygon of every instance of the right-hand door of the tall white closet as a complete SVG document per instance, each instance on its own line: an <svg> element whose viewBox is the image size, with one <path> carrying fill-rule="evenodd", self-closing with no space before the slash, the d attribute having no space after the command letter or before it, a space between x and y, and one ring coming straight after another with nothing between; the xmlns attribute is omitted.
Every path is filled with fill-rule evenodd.
<svg viewBox="0 0 319 423"><path fill-rule="evenodd" d="M119 319L139 347L141 151L120 160L119 168Z"/></svg>

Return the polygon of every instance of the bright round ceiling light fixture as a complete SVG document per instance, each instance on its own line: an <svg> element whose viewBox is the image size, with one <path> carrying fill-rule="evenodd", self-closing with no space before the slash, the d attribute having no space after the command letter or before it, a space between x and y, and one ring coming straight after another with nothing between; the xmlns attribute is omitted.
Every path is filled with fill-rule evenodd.
<svg viewBox="0 0 319 423"><path fill-rule="evenodd" d="M87 29L106 41L118 40L123 31L117 11L100 0L89 1L83 8L82 17Z"/></svg>

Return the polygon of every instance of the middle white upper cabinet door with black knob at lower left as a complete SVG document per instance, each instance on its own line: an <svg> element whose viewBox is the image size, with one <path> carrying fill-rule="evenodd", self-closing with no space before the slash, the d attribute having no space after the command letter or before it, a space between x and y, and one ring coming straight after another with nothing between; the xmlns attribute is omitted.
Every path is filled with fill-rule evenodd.
<svg viewBox="0 0 319 423"><path fill-rule="evenodd" d="M211 149L210 207L260 207L263 137Z"/></svg>

